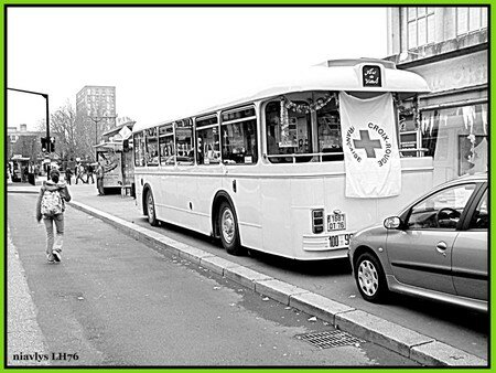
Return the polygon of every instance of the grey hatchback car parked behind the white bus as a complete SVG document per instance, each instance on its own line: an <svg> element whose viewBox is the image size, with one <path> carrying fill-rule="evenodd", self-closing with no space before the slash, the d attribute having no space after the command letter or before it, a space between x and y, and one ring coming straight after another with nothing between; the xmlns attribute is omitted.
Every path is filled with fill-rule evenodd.
<svg viewBox="0 0 496 373"><path fill-rule="evenodd" d="M487 173L462 177L357 232L349 259L363 298L388 291L487 311Z"/></svg>

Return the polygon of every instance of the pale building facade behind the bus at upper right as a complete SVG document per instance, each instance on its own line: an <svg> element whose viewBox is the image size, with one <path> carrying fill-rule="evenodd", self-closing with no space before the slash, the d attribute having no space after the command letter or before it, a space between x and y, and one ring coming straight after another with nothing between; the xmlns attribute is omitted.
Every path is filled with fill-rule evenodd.
<svg viewBox="0 0 496 373"><path fill-rule="evenodd" d="M488 168L488 7L388 9L388 54L431 93L402 103L400 149L431 156L434 183Z"/></svg>

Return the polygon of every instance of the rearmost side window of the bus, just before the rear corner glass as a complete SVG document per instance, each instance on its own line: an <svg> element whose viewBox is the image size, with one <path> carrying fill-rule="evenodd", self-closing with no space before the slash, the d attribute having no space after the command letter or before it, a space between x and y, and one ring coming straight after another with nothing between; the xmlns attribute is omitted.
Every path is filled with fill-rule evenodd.
<svg viewBox="0 0 496 373"><path fill-rule="evenodd" d="M254 107L223 113L222 159L225 164L255 164L258 160L257 117Z"/></svg>

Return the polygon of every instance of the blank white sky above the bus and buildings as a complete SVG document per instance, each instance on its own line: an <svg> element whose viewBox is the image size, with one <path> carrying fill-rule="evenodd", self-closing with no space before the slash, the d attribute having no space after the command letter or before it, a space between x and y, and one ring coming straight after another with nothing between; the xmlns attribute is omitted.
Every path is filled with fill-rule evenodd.
<svg viewBox="0 0 496 373"><path fill-rule="evenodd" d="M8 87L74 108L116 86L118 117L159 122L256 93L326 60L387 55L379 7L18 7L7 11ZM8 90L8 126L36 130L42 96Z"/></svg>

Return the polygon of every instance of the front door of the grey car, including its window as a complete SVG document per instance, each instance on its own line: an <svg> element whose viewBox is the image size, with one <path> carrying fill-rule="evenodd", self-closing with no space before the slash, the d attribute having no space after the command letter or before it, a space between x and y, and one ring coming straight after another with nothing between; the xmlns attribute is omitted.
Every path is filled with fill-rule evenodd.
<svg viewBox="0 0 496 373"><path fill-rule="evenodd" d="M388 231L391 270L402 284L455 294L452 248L475 183L444 188L416 203L403 230Z"/></svg>

